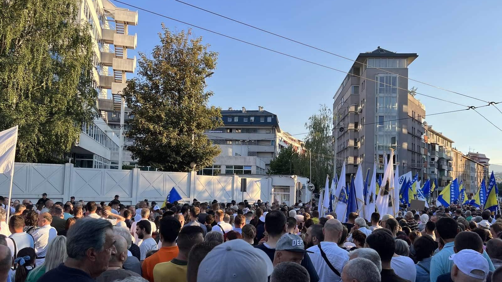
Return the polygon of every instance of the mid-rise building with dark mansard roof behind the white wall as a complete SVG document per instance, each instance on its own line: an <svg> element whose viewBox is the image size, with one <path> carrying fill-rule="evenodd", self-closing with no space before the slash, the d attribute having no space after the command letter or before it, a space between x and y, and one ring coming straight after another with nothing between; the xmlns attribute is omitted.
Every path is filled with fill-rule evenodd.
<svg viewBox="0 0 502 282"><path fill-rule="evenodd" d="M204 175L256 174L263 175L281 149L293 146L303 150L303 142L281 130L277 115L258 107L258 110L222 110L223 127L207 130L205 134L221 148L212 167Z"/></svg>

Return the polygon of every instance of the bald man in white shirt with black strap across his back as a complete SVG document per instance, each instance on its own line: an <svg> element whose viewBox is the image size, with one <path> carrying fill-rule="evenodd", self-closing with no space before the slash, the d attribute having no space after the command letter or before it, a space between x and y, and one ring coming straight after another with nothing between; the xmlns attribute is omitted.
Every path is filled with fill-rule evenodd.
<svg viewBox="0 0 502 282"><path fill-rule="evenodd" d="M343 225L341 222L338 219L329 219L323 228L324 241L307 249L313 252L309 253L309 256L317 274L319 274L319 282L341 281L340 273L343 265L348 261L347 251L338 246L342 232ZM321 249L326 253L326 257L338 273L333 272L328 266L321 255Z"/></svg>

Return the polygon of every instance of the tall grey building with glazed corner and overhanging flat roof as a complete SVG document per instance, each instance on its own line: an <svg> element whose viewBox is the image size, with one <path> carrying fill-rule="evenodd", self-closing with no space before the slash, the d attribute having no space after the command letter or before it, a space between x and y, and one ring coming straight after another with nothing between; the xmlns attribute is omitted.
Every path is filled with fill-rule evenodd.
<svg viewBox="0 0 502 282"><path fill-rule="evenodd" d="M384 156L394 149L400 173L422 174L425 107L407 90L408 66L417 57L380 47L357 56L333 97L337 171L343 161L347 175L358 164L366 170L376 161L377 172L384 173Z"/></svg>

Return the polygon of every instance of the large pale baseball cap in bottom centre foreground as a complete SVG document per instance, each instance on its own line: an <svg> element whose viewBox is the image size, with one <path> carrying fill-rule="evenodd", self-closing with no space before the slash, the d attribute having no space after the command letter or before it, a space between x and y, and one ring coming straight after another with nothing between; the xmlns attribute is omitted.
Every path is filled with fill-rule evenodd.
<svg viewBox="0 0 502 282"><path fill-rule="evenodd" d="M264 251L235 239L217 245L204 257L197 282L267 282L273 270L272 261Z"/></svg>

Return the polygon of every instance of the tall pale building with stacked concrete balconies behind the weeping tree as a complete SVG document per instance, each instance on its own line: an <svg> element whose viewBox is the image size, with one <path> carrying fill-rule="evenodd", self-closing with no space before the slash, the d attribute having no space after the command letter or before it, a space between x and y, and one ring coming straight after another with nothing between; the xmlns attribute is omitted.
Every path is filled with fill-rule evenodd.
<svg viewBox="0 0 502 282"><path fill-rule="evenodd" d="M71 156L77 167L121 169L118 164L124 156L128 160L128 154L122 152L123 139L119 138L127 112L120 93L126 86L126 74L136 68L136 57L129 58L128 50L137 46L137 36L129 34L129 27L138 24L138 12L118 8L109 0L83 0L78 20L91 26L93 86L98 92L94 110L100 117L82 125Z"/></svg>

